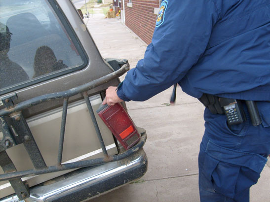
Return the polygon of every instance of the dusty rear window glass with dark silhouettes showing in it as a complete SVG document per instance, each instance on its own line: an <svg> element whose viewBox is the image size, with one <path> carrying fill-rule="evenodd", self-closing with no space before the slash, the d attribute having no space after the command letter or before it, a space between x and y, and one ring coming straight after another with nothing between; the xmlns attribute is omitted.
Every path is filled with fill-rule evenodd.
<svg viewBox="0 0 270 202"><path fill-rule="evenodd" d="M0 91L81 67L83 52L65 28L47 0L0 0Z"/></svg>

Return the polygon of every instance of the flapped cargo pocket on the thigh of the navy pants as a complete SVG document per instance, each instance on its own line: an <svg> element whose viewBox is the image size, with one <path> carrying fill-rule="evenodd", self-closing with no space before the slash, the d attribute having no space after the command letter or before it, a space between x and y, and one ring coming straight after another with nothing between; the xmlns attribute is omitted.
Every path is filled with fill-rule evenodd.
<svg viewBox="0 0 270 202"><path fill-rule="evenodd" d="M257 183L266 162L258 154L227 149L209 141L201 170L208 181L204 190L234 199Z"/></svg>

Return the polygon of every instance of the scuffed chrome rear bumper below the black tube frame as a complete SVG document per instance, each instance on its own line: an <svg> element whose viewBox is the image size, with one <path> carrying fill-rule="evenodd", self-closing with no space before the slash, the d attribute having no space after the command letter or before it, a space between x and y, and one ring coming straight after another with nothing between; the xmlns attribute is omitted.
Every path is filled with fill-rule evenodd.
<svg viewBox="0 0 270 202"><path fill-rule="evenodd" d="M25 202L81 202L111 191L142 177L147 171L147 156L143 148L116 162L82 168L30 188ZM63 179L64 178L64 179ZM0 202L14 202L16 196Z"/></svg>

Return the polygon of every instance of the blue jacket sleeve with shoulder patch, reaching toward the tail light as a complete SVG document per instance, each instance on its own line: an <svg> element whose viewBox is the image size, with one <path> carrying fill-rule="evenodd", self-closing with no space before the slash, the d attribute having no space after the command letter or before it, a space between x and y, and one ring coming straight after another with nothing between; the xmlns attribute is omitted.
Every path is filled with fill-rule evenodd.
<svg viewBox="0 0 270 202"><path fill-rule="evenodd" d="M148 100L179 82L204 53L220 13L214 0L163 2L166 7L144 59L127 72L117 90L124 101Z"/></svg>

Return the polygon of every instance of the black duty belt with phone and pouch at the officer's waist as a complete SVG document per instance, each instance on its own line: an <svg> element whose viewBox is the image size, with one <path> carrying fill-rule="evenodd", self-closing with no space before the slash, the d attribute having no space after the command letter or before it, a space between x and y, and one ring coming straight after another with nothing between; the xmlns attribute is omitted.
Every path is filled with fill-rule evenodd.
<svg viewBox="0 0 270 202"><path fill-rule="evenodd" d="M253 126L262 123L256 101L243 101L230 98L220 98L210 94L203 94L198 99L213 114L225 114L229 125L239 124L246 121L242 102L246 103L248 113Z"/></svg>

